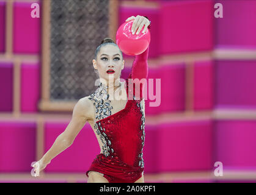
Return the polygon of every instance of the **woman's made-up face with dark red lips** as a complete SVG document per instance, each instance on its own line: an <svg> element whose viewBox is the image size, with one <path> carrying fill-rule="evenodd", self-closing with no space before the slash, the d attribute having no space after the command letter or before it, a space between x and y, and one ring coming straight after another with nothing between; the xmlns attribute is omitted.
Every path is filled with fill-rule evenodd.
<svg viewBox="0 0 256 195"><path fill-rule="evenodd" d="M120 78L122 69L124 68L125 60L122 60L122 55L120 54L119 48L112 44L107 44L100 48L97 55L97 60L92 60L93 67L98 70L100 78L105 79L107 82L109 79L114 77L114 82L116 79ZM114 73L108 73L109 69L114 70Z"/></svg>

